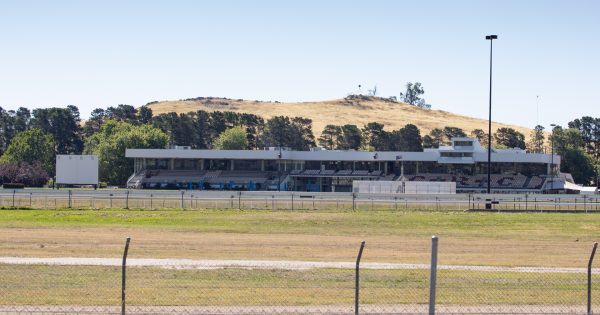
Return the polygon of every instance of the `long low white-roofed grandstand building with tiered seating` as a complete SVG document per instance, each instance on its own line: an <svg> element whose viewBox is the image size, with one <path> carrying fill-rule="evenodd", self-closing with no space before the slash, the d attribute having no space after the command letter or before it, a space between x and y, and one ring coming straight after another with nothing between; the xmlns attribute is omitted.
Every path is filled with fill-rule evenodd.
<svg viewBox="0 0 600 315"><path fill-rule="evenodd" d="M352 191L354 180L453 181L459 192L485 191L487 149L474 138L423 152L127 149L136 188ZM494 192L541 192L564 187L560 156L521 149L492 150ZM553 171L554 170L554 171ZM553 183L552 183L553 182Z"/></svg>

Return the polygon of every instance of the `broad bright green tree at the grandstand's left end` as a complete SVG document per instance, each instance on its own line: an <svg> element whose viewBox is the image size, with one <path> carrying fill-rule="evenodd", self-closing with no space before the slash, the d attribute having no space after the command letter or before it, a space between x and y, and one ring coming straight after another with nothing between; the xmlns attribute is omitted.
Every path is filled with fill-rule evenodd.
<svg viewBox="0 0 600 315"><path fill-rule="evenodd" d="M133 172L133 160L125 157L125 149L163 149L169 137L150 125L135 126L109 120L85 141L85 154L98 155L100 179L122 185Z"/></svg>

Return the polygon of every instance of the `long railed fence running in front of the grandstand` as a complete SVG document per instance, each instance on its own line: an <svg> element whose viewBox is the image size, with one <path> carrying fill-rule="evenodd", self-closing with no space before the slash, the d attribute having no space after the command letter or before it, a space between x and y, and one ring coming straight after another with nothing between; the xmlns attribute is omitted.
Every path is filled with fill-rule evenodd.
<svg viewBox="0 0 600 315"><path fill-rule="evenodd" d="M598 195L7 190L0 207L37 209L474 210L599 212Z"/></svg>

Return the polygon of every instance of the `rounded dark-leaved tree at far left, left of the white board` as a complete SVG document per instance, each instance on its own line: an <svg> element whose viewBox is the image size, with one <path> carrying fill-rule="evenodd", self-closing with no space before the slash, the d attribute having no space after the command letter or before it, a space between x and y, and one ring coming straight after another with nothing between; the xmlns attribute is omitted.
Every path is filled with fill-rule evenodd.
<svg viewBox="0 0 600 315"><path fill-rule="evenodd" d="M54 140L40 129L32 128L15 135L0 164L40 163L46 172L54 173Z"/></svg>

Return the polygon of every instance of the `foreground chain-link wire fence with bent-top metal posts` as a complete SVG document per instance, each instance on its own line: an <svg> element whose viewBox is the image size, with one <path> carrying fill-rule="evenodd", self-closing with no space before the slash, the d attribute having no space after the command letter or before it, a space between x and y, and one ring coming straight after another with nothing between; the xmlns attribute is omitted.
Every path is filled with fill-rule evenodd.
<svg viewBox="0 0 600 315"><path fill-rule="evenodd" d="M581 267L369 260L205 261L17 258L0 261L0 314L591 314L593 250ZM358 245L358 244L356 244ZM440 248L443 249L443 240ZM127 248L127 246L126 246ZM135 240L131 242L135 253ZM135 257L135 255L133 255ZM443 251L439 255L443 261ZM362 259L362 260L361 260Z"/></svg>

